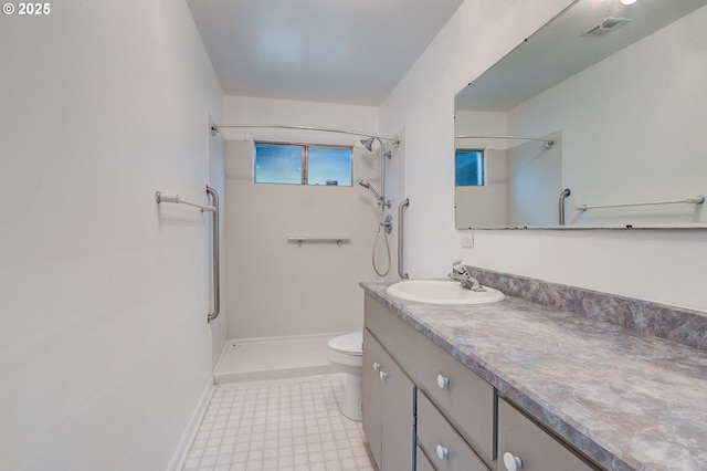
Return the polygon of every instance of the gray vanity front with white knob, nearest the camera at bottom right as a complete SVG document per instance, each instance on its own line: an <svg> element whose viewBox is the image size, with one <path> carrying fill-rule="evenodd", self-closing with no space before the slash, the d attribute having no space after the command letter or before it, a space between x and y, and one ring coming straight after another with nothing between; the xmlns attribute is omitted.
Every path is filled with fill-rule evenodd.
<svg viewBox="0 0 707 471"><path fill-rule="evenodd" d="M498 471L506 471L504 458L520 459L523 471L597 471L599 468L555 439L505 399L498 400ZM513 469L513 467L510 467Z"/></svg>

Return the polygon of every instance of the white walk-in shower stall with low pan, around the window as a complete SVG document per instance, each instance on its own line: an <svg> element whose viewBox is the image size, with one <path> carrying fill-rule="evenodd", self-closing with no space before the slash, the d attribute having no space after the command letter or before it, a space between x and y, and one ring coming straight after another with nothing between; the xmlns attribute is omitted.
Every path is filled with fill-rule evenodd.
<svg viewBox="0 0 707 471"><path fill-rule="evenodd" d="M232 127L249 134L233 139L226 130ZM354 185L254 182L255 144L250 133L263 128L294 133L286 139L291 143L313 144L309 136L317 132L337 134L337 145L348 142L352 147ZM386 170L387 161L398 158L398 139L307 126L212 127L212 134L221 132L226 135L226 281L222 290L229 306L229 341L215 380L334 373L327 342L362 328L358 282L390 272L392 214ZM382 262L371 257L377 245L387 249L381 250Z"/></svg>

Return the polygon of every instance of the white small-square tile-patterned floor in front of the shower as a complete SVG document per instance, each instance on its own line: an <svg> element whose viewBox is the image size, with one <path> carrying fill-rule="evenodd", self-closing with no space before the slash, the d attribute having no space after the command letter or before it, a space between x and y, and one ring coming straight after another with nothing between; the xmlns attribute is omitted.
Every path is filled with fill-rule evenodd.
<svg viewBox="0 0 707 471"><path fill-rule="evenodd" d="M191 471L372 471L361 423L338 409L346 375L215 387L184 463Z"/></svg>

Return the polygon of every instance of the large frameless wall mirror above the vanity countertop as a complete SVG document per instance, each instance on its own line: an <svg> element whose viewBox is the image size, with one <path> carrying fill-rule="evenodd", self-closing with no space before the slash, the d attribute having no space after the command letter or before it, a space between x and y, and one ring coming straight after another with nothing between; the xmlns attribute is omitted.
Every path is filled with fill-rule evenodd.
<svg viewBox="0 0 707 471"><path fill-rule="evenodd" d="M457 229L707 227L707 0L624 3L574 2L455 96Z"/></svg>

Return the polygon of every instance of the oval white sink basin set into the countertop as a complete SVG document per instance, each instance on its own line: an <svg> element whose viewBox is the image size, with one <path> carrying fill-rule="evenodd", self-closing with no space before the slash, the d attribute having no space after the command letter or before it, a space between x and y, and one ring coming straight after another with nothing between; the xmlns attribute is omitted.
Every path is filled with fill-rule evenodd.
<svg viewBox="0 0 707 471"><path fill-rule="evenodd" d="M391 284L386 292L407 301L430 304L486 304L506 297L493 287L484 286L484 290L465 290L458 281L453 280L405 280Z"/></svg>

